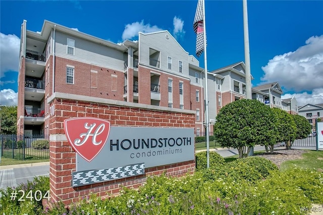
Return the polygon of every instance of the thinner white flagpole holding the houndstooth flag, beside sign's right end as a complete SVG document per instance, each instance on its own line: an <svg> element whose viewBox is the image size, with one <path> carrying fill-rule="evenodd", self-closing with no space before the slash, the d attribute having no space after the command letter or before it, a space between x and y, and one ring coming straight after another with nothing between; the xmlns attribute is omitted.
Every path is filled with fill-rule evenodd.
<svg viewBox="0 0 323 215"><path fill-rule="evenodd" d="M203 3L203 39L204 39L204 76L205 76L205 89L204 89L204 98L205 98L205 126L206 126L206 167L209 168L209 120L208 120L208 96L207 96L207 57L206 57L206 22L205 22L205 1Z"/></svg>

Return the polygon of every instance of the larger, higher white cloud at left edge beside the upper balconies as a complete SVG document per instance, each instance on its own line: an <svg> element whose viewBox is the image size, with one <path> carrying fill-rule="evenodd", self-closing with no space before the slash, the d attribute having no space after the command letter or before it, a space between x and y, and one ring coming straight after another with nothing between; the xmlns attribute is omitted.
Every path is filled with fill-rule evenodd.
<svg viewBox="0 0 323 215"><path fill-rule="evenodd" d="M17 71L19 68L20 39L14 34L0 33L0 77L7 71Z"/></svg>

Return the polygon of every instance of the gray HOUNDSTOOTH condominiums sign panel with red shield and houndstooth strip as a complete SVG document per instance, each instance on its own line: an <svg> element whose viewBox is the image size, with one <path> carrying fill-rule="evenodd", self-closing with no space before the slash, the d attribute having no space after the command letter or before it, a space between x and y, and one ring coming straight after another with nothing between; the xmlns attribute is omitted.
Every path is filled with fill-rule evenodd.
<svg viewBox="0 0 323 215"><path fill-rule="evenodd" d="M65 120L64 130L77 152L72 186L195 159L194 128L110 127L108 121L83 117Z"/></svg>

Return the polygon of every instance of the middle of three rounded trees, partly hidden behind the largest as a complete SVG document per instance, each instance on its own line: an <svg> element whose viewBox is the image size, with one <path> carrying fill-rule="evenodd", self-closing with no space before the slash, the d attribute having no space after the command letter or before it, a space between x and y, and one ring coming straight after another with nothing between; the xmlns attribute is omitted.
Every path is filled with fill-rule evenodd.
<svg viewBox="0 0 323 215"><path fill-rule="evenodd" d="M286 148L290 149L296 138L296 124L291 114L278 108L273 108L272 112L275 115L275 142L285 142ZM266 149L267 150L267 149ZM271 147L271 152L274 148Z"/></svg>

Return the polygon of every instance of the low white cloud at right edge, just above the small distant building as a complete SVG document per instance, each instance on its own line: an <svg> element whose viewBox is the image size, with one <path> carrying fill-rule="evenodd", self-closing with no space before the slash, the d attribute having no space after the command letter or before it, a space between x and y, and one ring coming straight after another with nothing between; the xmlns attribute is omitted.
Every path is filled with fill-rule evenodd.
<svg viewBox="0 0 323 215"><path fill-rule="evenodd" d="M282 98L292 98L293 96L295 96L298 106L302 106L308 103L321 104L323 103L323 88L313 89L311 94L307 92L293 94L288 93L282 95Z"/></svg>

